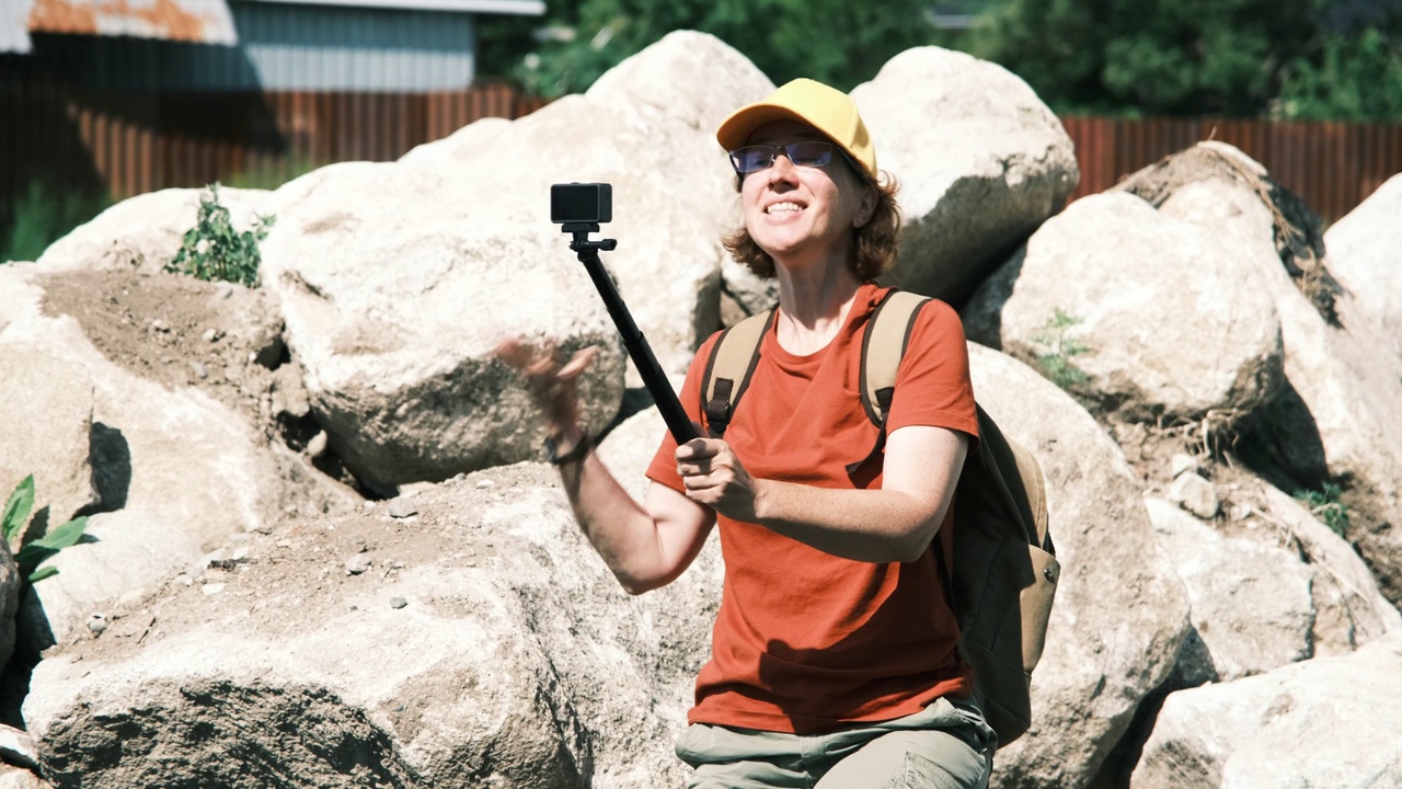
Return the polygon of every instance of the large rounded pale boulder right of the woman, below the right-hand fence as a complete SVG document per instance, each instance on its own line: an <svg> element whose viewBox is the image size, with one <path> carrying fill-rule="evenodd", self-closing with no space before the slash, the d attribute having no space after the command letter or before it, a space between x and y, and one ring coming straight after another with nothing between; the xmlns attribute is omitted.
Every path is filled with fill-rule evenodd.
<svg viewBox="0 0 1402 789"><path fill-rule="evenodd" d="M1137 197L1091 195L1047 220L963 316L970 338L1039 364L1102 413L1245 414L1281 382L1280 323L1246 254Z"/></svg>

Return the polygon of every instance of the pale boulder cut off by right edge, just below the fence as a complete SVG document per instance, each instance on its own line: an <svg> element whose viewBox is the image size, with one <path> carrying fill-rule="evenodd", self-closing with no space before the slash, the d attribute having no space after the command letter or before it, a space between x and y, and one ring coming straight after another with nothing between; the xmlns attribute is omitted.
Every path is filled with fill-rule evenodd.
<svg viewBox="0 0 1402 789"><path fill-rule="evenodd" d="M1394 175L1325 233L1329 271L1378 336L1402 357L1402 174Z"/></svg>

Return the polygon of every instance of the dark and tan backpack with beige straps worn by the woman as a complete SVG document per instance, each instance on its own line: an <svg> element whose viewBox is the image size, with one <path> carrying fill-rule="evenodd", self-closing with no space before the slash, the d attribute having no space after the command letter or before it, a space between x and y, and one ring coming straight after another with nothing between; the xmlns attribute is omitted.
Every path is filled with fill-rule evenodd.
<svg viewBox="0 0 1402 789"><path fill-rule="evenodd" d="M866 326L861 402L879 431L873 455L885 446L896 371L928 300L892 291ZM770 309L725 330L707 359L701 399L714 438L725 435L774 314ZM974 696L1001 748L1032 724L1032 670L1046 643L1060 564L1047 532L1042 468L983 407L976 410L979 448L965 460L952 504L953 556L945 556L941 539L932 545L959 622L959 649L973 668Z"/></svg>

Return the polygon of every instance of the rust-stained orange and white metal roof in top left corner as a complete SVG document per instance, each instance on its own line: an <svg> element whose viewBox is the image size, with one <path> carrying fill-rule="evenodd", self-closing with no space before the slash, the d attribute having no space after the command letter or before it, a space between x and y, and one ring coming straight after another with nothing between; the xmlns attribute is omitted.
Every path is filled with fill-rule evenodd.
<svg viewBox="0 0 1402 789"><path fill-rule="evenodd" d="M238 44L224 0L32 0L29 32Z"/></svg>

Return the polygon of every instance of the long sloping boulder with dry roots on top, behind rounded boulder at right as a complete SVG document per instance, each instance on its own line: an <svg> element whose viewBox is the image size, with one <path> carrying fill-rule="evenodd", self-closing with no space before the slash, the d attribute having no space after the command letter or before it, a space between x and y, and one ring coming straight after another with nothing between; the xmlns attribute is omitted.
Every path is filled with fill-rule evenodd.
<svg viewBox="0 0 1402 789"><path fill-rule="evenodd" d="M1202 146L1199 146L1202 147ZM1195 150L1195 160L1203 156ZM1347 539L1359 545L1384 594L1402 601L1402 358L1391 352L1357 300L1333 285L1318 258L1316 219L1293 208L1265 170L1218 146L1231 161L1199 180L1179 178L1159 212L1210 232L1256 265L1260 295L1274 302L1286 382L1237 425L1238 449L1277 487L1342 489ZM1251 160L1245 160L1249 163ZM1246 175L1251 178L1246 178ZM1180 181L1180 183L1179 183ZM1263 195L1284 195L1269 202ZM1293 218L1293 219L1291 219Z"/></svg>

